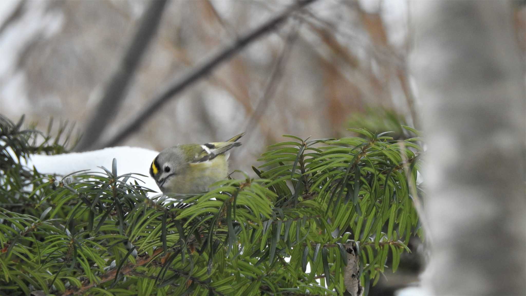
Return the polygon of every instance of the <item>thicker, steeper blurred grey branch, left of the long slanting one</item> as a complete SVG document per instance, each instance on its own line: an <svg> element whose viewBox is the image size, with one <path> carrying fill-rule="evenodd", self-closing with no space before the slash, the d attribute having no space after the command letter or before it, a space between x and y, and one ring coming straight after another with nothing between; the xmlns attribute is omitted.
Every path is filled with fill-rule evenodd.
<svg viewBox="0 0 526 296"><path fill-rule="evenodd" d="M120 61L115 73L109 81L102 100L97 106L94 116L86 126L84 136L76 150L86 150L93 147L98 141L109 121L119 110L120 104L126 95L128 85L140 63L141 57L146 52L149 42L155 36L159 27L161 15L167 0L151 1L143 17L135 36Z"/></svg>

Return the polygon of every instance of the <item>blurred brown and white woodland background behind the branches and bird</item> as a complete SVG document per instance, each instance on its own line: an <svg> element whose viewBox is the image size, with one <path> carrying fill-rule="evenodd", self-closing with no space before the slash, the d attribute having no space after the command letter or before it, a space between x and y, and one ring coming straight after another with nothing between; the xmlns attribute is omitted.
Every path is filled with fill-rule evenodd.
<svg viewBox="0 0 526 296"><path fill-rule="evenodd" d="M167 88L295 3L168 1L150 12L158 26L139 36L148 46L136 55L136 67L123 68L151 2L2 0L0 112L13 121L25 114L39 130L51 117L75 122L78 132L95 132L93 143L78 150L103 147ZM526 9L517 3L514 24L524 53ZM250 166L267 145L284 141L283 134L340 137L350 134L349 127L367 127L403 137L400 123L420 128L418 92L406 61L409 5L318 0L295 9L115 144L160 151L246 131L231 168L253 174ZM106 104L123 69L129 77L118 95L122 102ZM108 122L90 130L105 106ZM404 254L400 272L386 272L370 295L390 295L417 280L421 260L413 250L417 255Z"/></svg>

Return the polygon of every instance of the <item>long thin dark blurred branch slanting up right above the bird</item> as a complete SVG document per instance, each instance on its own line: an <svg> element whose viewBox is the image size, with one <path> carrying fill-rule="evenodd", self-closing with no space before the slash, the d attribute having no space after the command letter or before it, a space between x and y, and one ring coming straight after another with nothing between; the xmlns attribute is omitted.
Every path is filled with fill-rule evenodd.
<svg viewBox="0 0 526 296"><path fill-rule="evenodd" d="M143 111L139 112L139 114L137 114L132 120L130 120L124 126L124 128L120 130L116 135L114 135L109 141L105 143L99 143L95 146L97 148L113 146L119 143L120 141L126 139L126 137L128 137L130 134L137 131L140 125L145 123L151 116L153 116L155 112L159 110L159 108L163 104L165 104L171 97L181 93L186 89L186 87L199 81L200 78L205 77L218 65L228 61L232 56L237 54L250 43L256 41L259 37L264 36L265 34L276 29L279 25L286 21L286 19L291 13L315 1L317 0L301 0L296 2L295 4L285 9L284 12L269 19L267 22L257 27L253 31L249 32L248 34L241 36L232 44L226 46L225 48L222 48L222 50L207 58L201 65L195 67L187 75L168 85L168 87L165 88L164 92L161 92L157 97L153 98L153 100L151 100L151 103L148 106L146 106L143 109Z"/></svg>

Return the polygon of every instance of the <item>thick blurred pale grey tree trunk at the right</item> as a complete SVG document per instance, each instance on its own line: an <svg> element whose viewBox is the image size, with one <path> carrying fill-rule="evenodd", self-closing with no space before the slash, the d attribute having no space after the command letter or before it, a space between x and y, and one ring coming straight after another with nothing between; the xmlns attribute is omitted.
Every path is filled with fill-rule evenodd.
<svg viewBox="0 0 526 296"><path fill-rule="evenodd" d="M410 2L433 295L526 294L524 57L512 2Z"/></svg>

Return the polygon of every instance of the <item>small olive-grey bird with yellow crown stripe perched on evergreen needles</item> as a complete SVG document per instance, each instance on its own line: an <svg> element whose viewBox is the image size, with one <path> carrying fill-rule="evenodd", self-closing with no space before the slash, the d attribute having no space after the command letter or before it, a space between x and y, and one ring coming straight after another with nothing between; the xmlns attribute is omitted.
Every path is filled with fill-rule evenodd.
<svg viewBox="0 0 526 296"><path fill-rule="evenodd" d="M228 174L229 150L240 146L241 133L226 142L184 144L161 151L150 165L150 176L164 194L191 194L209 190Z"/></svg>

